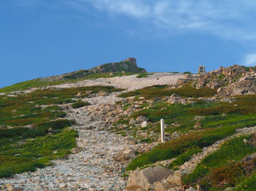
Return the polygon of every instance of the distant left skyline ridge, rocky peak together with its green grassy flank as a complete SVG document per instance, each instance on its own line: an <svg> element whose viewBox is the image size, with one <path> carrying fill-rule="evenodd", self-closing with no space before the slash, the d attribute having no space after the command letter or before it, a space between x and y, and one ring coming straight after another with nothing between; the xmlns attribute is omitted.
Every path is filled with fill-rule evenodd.
<svg viewBox="0 0 256 191"><path fill-rule="evenodd" d="M115 76L123 76L122 71L125 71L124 75L147 73L144 68L137 67L135 58L127 58L121 62L102 64L87 70L79 70L59 76L49 76L19 82L14 85L0 88L0 93L24 91L31 88L47 87L49 85L75 83L86 79L112 78Z"/></svg>

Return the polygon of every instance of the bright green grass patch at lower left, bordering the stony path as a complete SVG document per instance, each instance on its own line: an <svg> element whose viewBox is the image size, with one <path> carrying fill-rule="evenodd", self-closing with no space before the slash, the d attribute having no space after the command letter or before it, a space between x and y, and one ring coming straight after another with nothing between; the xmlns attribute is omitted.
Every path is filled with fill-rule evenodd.
<svg viewBox="0 0 256 191"><path fill-rule="evenodd" d="M0 149L0 178L49 165L50 160L67 155L76 147L77 136L77 132L70 129L55 135L26 139L21 145L13 141L6 144Z"/></svg>

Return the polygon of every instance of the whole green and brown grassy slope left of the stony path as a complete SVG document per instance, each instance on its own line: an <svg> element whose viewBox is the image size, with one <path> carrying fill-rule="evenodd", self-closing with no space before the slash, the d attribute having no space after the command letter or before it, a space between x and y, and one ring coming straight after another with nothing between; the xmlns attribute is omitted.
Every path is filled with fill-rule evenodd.
<svg viewBox="0 0 256 191"><path fill-rule="evenodd" d="M97 93L100 90L121 91L111 86L92 86L38 90L16 97L0 96L0 125L13 126L0 127L0 145L4 145L0 148L0 177L44 167L50 164L50 159L62 157L76 147L78 134L67 128L71 126L69 120L61 119L66 116L63 109L59 106L42 109L40 105L75 102L71 98L78 92ZM77 103L77 106L88 105ZM32 128L21 127L26 125ZM52 135L47 133L49 128L54 130Z"/></svg>

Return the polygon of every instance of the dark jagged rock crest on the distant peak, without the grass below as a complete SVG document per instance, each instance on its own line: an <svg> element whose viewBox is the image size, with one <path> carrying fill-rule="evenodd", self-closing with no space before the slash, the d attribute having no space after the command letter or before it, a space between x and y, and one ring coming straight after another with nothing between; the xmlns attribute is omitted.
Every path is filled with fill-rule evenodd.
<svg viewBox="0 0 256 191"><path fill-rule="evenodd" d="M46 78L39 78L41 81L57 81L62 79L76 79L82 78L85 76L89 76L92 74L100 74L100 73L113 73L113 72L131 72L131 73L147 73L144 68L137 67L135 58L127 58L121 62L108 63L98 65L91 69L87 70L78 70L70 73L63 74L61 76L50 76Z"/></svg>

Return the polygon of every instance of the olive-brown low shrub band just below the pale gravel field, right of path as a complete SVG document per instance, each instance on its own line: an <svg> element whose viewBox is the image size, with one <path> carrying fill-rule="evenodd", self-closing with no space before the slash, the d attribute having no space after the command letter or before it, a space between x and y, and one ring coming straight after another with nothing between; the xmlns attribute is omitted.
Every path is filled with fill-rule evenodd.
<svg viewBox="0 0 256 191"><path fill-rule="evenodd" d="M146 99L152 99L156 96L171 96L173 93L178 94L182 97L211 97L217 93L217 89L209 89L209 88L200 88L196 89L191 87L190 85L175 88L175 89L167 89L168 85L154 85L151 87L145 87L135 91L129 91L126 93L122 93L119 97L125 98L130 96L142 96Z"/></svg>

